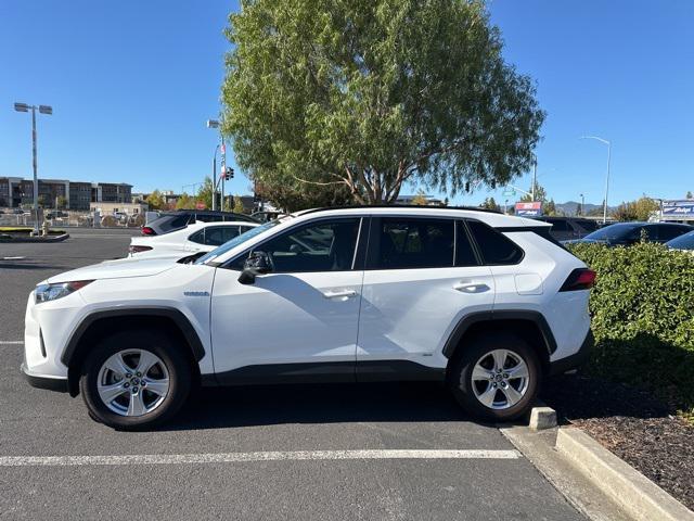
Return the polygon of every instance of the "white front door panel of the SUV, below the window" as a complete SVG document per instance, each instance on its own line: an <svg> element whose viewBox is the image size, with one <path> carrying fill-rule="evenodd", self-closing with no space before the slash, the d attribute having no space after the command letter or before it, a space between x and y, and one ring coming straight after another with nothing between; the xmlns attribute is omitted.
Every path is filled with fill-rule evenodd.
<svg viewBox="0 0 694 521"><path fill-rule="evenodd" d="M217 269L213 288L215 368L354 361L362 271L270 274L241 284ZM334 296L352 292L348 296ZM282 327L275 327L281 323Z"/></svg>

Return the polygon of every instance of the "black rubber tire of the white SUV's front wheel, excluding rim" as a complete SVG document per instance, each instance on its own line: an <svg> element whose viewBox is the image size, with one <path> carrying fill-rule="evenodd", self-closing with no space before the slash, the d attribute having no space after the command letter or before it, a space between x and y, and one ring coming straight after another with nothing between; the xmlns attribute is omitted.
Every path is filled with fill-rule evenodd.
<svg viewBox="0 0 694 521"><path fill-rule="evenodd" d="M141 350L156 355L168 371L169 387L165 398L142 416L121 416L111 410L101 399L97 387L99 372L104 363L123 351ZM101 340L85 359L79 390L89 416L117 430L144 430L157 425L176 415L191 391L191 367L183 346L163 331L134 330L114 333ZM129 397L129 396L128 396Z"/></svg>

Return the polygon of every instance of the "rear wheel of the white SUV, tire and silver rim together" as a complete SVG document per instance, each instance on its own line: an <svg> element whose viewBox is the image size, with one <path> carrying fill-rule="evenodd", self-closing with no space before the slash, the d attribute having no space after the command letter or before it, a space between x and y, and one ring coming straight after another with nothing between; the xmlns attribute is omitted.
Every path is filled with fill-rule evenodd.
<svg viewBox="0 0 694 521"><path fill-rule="evenodd" d="M530 409L541 370L535 350L523 339L489 333L460 350L451 360L448 384L467 412L484 420L510 421Z"/></svg>

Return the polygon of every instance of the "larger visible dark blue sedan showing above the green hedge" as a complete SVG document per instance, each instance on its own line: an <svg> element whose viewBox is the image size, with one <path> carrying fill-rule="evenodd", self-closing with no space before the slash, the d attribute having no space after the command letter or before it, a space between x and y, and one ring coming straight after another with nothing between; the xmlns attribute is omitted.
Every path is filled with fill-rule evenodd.
<svg viewBox="0 0 694 521"><path fill-rule="evenodd" d="M642 233L648 242L666 243L690 231L694 231L694 227L676 223L617 223L564 243L602 242L609 246L629 246L639 242Z"/></svg>

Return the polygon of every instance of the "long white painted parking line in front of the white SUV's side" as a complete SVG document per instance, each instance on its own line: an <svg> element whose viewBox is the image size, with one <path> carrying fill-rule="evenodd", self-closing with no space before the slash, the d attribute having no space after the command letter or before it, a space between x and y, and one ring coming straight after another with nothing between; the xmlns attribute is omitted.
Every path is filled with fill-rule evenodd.
<svg viewBox="0 0 694 521"><path fill-rule="evenodd" d="M221 454L139 454L123 456L0 456L0 467L75 467L89 465L185 465L242 461L338 459L518 459L517 450L295 450Z"/></svg>

